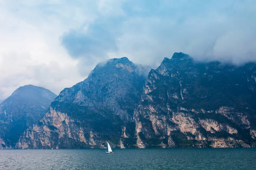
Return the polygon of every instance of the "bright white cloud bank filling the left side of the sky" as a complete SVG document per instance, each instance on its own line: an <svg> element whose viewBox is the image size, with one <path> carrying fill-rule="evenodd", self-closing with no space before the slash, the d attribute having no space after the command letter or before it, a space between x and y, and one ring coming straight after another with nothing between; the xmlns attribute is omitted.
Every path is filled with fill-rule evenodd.
<svg viewBox="0 0 256 170"><path fill-rule="evenodd" d="M27 84L58 94L85 78L60 43L65 31L94 20L83 10L57 0L0 1L0 99Z"/></svg>

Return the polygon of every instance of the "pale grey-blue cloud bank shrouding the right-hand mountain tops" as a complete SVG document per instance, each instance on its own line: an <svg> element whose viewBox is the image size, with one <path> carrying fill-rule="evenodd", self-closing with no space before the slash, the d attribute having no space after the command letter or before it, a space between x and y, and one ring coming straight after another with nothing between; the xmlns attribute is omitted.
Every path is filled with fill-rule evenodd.
<svg viewBox="0 0 256 170"><path fill-rule="evenodd" d="M256 1L166 3L155 8L157 14L136 15L122 23L118 55L155 66L174 52L197 60L256 61Z"/></svg>

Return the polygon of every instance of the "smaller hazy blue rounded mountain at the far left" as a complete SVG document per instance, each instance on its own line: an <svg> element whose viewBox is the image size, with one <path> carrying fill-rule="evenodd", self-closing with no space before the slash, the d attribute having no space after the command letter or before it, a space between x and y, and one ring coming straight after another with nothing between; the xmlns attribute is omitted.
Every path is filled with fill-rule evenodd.
<svg viewBox="0 0 256 170"><path fill-rule="evenodd" d="M5 99L0 104L0 149L15 147L20 135L43 117L55 97L45 88L26 85Z"/></svg>

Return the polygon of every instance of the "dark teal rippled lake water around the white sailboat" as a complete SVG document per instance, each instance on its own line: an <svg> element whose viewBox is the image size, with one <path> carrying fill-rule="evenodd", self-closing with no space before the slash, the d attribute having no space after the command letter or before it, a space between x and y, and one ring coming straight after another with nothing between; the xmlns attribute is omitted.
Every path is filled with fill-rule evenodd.
<svg viewBox="0 0 256 170"><path fill-rule="evenodd" d="M256 148L0 150L0 170L256 170Z"/></svg>

